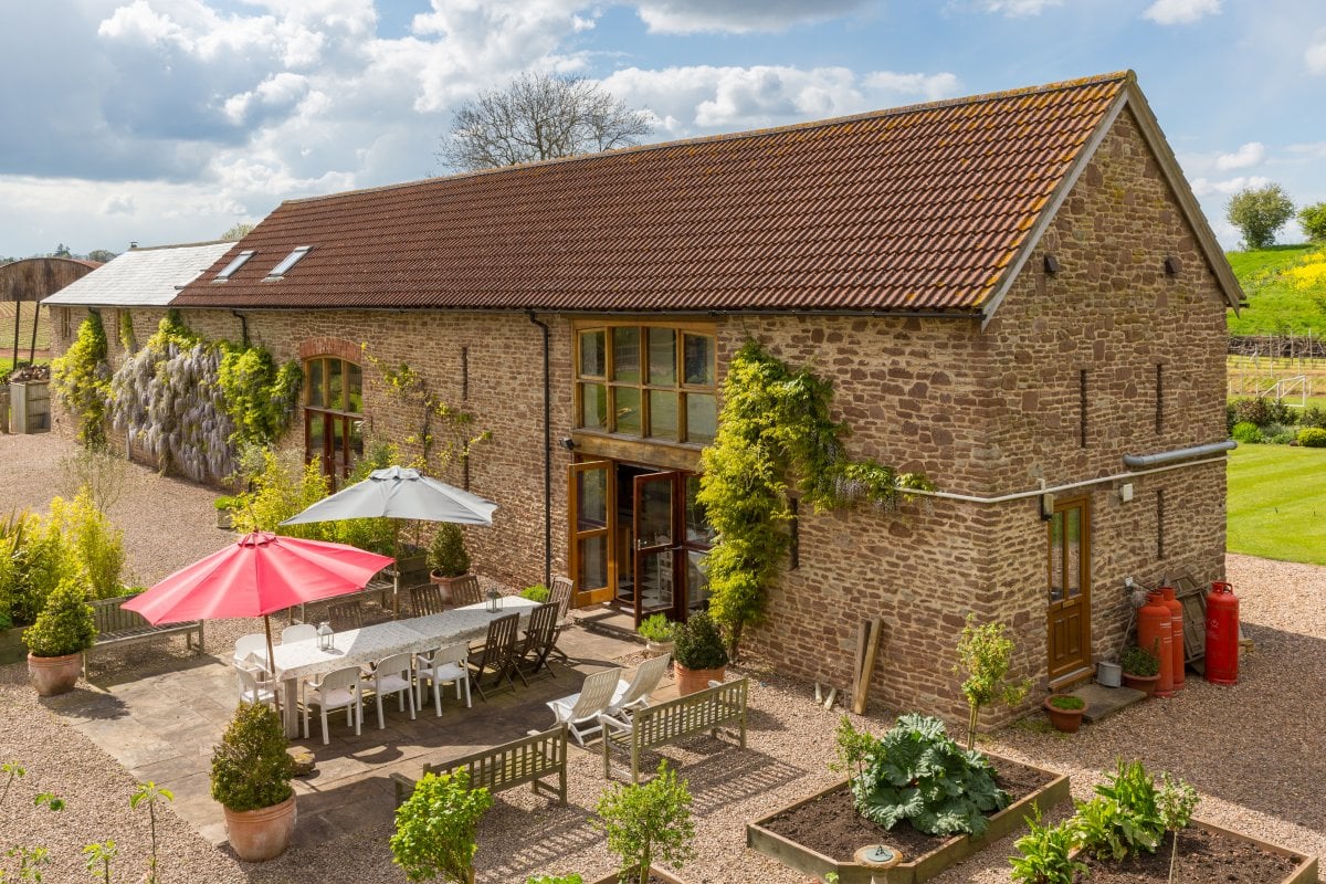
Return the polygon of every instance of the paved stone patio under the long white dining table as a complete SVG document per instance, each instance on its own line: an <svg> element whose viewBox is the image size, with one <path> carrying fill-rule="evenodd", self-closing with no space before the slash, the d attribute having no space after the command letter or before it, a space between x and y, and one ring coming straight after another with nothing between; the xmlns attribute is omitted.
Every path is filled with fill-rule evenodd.
<svg viewBox="0 0 1326 884"><path fill-rule="evenodd" d="M52 698L49 708L123 765L134 779L151 779L170 789L175 812L212 844L221 844L227 840L225 823L220 804L211 797L211 757L235 712L237 688L228 665L229 649L216 644L210 643L207 656L162 655L149 664L106 668L94 660L91 684L80 683L73 693ZM355 737L345 714L334 712L329 716L332 742L325 746L321 721L312 716L310 738L292 741L312 750L317 762L312 775L294 781L300 795L296 844L312 847L381 824L391 818L394 807L390 774L418 775L424 762L456 758L545 729L553 724L544 705L548 700L579 691L590 672L621 665L623 657L642 649L629 639L585 628L566 631L560 647L572 660L570 665L553 664L557 677L530 681L528 688L517 679L514 692L493 694L488 701L475 692L472 709L456 700L453 688L444 691L440 718L431 694L415 721L408 712L398 710L394 697L387 697L386 728L379 730L370 698L362 734ZM656 696L675 696L670 680ZM572 750L582 751L574 744Z"/></svg>

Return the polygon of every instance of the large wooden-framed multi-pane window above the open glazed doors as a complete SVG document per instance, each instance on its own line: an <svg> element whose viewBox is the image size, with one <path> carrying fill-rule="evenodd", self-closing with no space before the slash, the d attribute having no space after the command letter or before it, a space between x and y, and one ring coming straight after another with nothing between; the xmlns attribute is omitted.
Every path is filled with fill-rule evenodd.
<svg viewBox="0 0 1326 884"><path fill-rule="evenodd" d="M713 335L605 325L575 331L575 424L659 441L708 444L717 429Z"/></svg>

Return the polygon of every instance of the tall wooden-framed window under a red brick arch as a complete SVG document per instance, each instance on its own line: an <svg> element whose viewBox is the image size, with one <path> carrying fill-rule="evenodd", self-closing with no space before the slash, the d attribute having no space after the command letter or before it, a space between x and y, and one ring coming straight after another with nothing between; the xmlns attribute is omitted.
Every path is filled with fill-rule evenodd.
<svg viewBox="0 0 1326 884"><path fill-rule="evenodd" d="M337 357L304 363L304 451L322 472L342 477L363 456L363 372Z"/></svg>

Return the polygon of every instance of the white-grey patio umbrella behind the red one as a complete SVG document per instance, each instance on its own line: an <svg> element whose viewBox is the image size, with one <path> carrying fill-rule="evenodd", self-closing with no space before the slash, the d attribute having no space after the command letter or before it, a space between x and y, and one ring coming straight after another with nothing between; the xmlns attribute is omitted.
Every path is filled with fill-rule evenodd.
<svg viewBox="0 0 1326 884"><path fill-rule="evenodd" d="M302 513L281 525L305 522L335 522L346 518L394 518L396 530L392 547L399 553L400 522L403 518L427 522L455 522L457 525L492 525L497 504L471 494L455 485L440 482L408 467L375 469L362 482L342 488L324 497ZM399 554L396 555L399 558ZM400 569L392 586L395 598L400 594Z"/></svg>

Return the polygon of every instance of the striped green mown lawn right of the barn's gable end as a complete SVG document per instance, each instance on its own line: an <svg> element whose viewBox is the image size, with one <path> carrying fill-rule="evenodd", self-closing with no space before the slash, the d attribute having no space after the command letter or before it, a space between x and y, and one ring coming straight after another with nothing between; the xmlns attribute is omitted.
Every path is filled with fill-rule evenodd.
<svg viewBox="0 0 1326 884"><path fill-rule="evenodd" d="M1326 565L1326 448L1240 445L1228 477L1231 553Z"/></svg>

